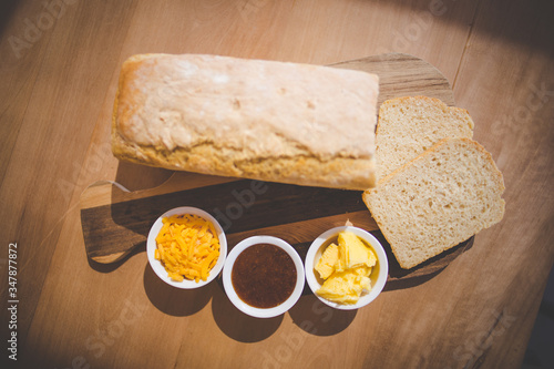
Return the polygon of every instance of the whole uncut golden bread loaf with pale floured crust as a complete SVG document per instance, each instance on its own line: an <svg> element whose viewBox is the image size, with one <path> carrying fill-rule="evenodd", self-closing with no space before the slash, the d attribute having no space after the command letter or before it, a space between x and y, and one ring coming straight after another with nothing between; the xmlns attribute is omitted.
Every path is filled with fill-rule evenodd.
<svg viewBox="0 0 554 369"><path fill-rule="evenodd" d="M375 74L216 55L142 54L122 66L121 160L349 189L376 182Z"/></svg>

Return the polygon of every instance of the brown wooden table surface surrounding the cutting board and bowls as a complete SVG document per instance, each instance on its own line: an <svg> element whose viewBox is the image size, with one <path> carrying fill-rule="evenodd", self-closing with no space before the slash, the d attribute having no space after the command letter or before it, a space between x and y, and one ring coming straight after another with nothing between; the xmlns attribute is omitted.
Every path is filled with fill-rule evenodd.
<svg viewBox="0 0 554 369"><path fill-rule="evenodd" d="M553 16L552 1L514 0L3 1L2 362L519 368L554 260ZM314 64L387 52L424 59L449 79L474 139L503 172L505 217L439 275L350 312L307 295L260 320L235 309L217 283L164 285L144 250L113 266L91 263L84 188L99 180L151 188L172 174L119 163L110 151L121 63L145 52Z"/></svg>

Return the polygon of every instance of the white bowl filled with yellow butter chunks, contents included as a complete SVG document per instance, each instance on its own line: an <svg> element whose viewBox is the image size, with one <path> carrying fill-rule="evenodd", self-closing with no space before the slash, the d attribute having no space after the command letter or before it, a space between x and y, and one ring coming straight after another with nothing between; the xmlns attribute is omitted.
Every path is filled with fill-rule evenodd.
<svg viewBox="0 0 554 369"><path fill-rule="evenodd" d="M382 291L389 274L387 254L370 233L353 226L329 229L310 245L306 280L324 304L359 309Z"/></svg>

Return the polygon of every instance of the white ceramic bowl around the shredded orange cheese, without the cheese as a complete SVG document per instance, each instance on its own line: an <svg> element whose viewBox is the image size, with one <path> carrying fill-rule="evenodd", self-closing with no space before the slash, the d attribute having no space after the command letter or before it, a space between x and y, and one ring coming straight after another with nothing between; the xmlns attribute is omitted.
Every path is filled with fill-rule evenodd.
<svg viewBox="0 0 554 369"><path fill-rule="evenodd" d="M156 258L154 257L154 252L157 248L156 237L160 233L160 229L162 229L163 225L162 218L176 214L193 214L201 216L204 219L212 222L212 224L215 227L215 230L217 232L217 236L219 238L219 258L217 259L217 263L212 268L212 270L209 270L209 276L207 277L206 280L201 279L197 283L195 280L189 280L186 278L183 279L182 281L173 280L167 276L167 270L165 270L162 262L156 260ZM227 256L227 238L225 237L225 232L223 230L223 227L212 215L197 207L182 206L165 212L156 219L156 222L154 222L154 225L150 229L148 238L146 240L146 254L148 255L148 263L152 269L154 269L154 273L166 284L173 287L185 288L185 289L198 288L214 280L215 277L217 277L217 275L222 271L223 266L225 265L225 258Z"/></svg>

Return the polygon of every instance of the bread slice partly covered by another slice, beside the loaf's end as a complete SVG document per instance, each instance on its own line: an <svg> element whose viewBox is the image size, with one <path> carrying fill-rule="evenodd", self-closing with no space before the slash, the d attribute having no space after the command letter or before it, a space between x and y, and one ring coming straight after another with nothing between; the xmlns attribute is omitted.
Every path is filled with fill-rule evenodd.
<svg viewBox="0 0 554 369"><path fill-rule="evenodd" d="M442 139L473 136L466 110L427 96L398 98L379 109L376 136L378 177L382 178Z"/></svg>

